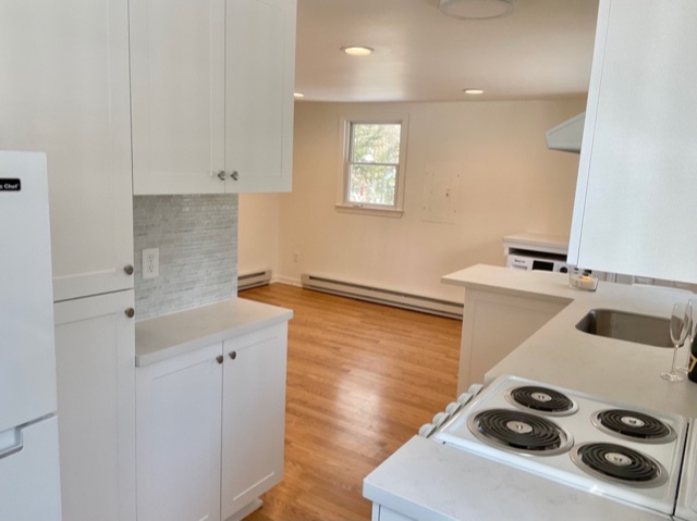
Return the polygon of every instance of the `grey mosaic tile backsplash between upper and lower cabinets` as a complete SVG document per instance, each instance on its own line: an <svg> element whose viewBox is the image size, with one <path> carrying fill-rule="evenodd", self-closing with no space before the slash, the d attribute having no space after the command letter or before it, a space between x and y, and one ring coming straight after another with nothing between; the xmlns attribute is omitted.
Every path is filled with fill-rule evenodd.
<svg viewBox="0 0 697 521"><path fill-rule="evenodd" d="M213 303L237 294L237 196L133 198L138 320ZM159 276L143 278L143 249L159 249Z"/></svg>

